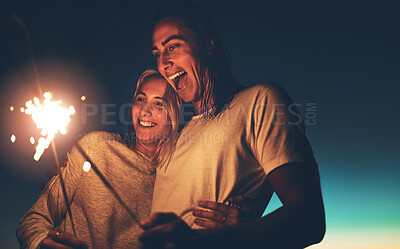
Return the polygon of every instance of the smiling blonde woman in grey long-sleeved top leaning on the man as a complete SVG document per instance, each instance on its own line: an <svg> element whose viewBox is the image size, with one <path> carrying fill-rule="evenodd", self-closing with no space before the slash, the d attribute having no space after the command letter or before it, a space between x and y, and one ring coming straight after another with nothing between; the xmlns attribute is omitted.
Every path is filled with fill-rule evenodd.
<svg viewBox="0 0 400 249"><path fill-rule="evenodd" d="M137 231L150 214L155 166L172 153L179 106L163 77L145 71L133 99L134 139L126 143L106 132L84 136L61 170L69 210L60 176L53 177L21 219L21 248L139 248Z"/></svg>

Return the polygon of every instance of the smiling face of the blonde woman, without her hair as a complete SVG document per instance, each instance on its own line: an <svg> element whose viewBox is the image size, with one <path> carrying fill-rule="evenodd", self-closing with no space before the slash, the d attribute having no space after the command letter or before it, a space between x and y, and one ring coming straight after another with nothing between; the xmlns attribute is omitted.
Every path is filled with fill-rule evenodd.
<svg viewBox="0 0 400 249"><path fill-rule="evenodd" d="M170 135L171 121L163 99L167 81L150 77L137 92L132 107L132 121L136 133L136 147L157 146Z"/></svg>

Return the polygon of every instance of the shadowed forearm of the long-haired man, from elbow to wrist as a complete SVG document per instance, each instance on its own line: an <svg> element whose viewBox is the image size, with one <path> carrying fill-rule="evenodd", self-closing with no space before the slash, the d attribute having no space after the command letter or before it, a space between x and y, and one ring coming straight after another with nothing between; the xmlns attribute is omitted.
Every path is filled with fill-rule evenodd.
<svg viewBox="0 0 400 249"><path fill-rule="evenodd" d="M199 248L219 249L303 248L322 240L325 225L321 222L323 213L318 210L287 205L257 221L218 230L198 230L196 244Z"/></svg>

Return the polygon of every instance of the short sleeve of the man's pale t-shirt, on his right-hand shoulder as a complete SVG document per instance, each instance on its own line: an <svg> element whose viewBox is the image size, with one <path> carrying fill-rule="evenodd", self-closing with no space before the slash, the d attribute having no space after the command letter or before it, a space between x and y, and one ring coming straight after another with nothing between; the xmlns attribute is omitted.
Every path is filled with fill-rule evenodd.
<svg viewBox="0 0 400 249"><path fill-rule="evenodd" d="M266 174L286 163L315 161L303 119L283 88L266 88L252 111L251 148Z"/></svg>

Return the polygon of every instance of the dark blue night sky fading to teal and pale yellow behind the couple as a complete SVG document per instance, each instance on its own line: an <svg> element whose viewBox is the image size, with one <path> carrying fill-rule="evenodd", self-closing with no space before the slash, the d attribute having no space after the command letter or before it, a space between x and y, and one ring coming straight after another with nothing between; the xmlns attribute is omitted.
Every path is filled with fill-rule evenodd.
<svg viewBox="0 0 400 249"><path fill-rule="evenodd" d="M26 33L13 15L27 27L42 88L77 109L68 134L56 137L62 157L79 134L124 132L136 81L156 67L150 20L158 3L7 2L0 3L0 248L18 248L18 221L39 197L54 159L47 150L33 160L29 137L39 134L18 111L38 92ZM399 2L201 4L214 17L238 83L277 83L299 106L327 215L326 237L314 248L398 246ZM267 212L278 206L274 197Z"/></svg>

